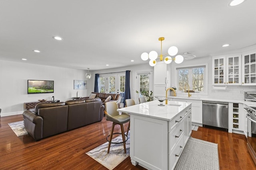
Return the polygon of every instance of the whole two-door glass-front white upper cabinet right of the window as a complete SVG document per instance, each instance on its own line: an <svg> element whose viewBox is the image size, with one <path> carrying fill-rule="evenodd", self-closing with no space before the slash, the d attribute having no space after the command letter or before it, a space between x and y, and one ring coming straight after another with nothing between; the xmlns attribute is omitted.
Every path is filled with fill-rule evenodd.
<svg viewBox="0 0 256 170"><path fill-rule="evenodd" d="M241 85L241 54L212 57L213 85Z"/></svg>

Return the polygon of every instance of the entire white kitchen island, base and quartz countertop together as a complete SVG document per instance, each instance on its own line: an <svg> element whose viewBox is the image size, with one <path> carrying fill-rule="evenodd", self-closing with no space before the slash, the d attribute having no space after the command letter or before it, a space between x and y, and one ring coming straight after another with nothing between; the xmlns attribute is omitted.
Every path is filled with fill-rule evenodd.
<svg viewBox="0 0 256 170"><path fill-rule="evenodd" d="M159 101L124 107L130 114L130 158L152 170L172 170L191 134L191 103Z"/></svg>

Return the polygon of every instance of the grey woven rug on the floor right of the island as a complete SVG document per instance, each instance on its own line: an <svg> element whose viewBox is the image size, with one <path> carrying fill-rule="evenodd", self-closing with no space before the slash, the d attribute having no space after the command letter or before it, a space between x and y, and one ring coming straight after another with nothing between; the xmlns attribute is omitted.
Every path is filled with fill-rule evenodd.
<svg viewBox="0 0 256 170"><path fill-rule="evenodd" d="M174 170L219 170L218 144L190 137Z"/></svg>

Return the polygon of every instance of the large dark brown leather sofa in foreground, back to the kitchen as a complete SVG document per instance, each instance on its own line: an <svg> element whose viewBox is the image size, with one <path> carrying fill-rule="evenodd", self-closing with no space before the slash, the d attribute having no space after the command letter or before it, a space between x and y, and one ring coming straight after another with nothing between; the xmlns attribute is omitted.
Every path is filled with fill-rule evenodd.
<svg viewBox="0 0 256 170"><path fill-rule="evenodd" d="M42 103L23 112L24 127L36 141L102 121L104 106L99 98Z"/></svg>

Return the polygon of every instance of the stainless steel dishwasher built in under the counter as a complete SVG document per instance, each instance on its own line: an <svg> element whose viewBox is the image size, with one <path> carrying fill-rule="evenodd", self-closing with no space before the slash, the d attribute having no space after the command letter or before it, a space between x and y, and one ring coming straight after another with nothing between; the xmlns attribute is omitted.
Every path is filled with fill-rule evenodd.
<svg viewBox="0 0 256 170"><path fill-rule="evenodd" d="M228 102L203 100L203 127L228 131Z"/></svg>

